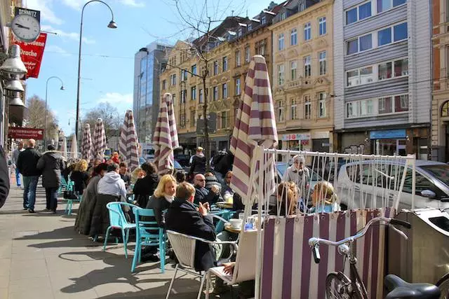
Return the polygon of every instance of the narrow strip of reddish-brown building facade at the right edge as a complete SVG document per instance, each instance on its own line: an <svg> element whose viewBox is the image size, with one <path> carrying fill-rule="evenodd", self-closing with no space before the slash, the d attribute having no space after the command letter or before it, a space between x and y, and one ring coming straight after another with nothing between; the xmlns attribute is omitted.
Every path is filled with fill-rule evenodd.
<svg viewBox="0 0 449 299"><path fill-rule="evenodd" d="M449 161L449 3L432 0L431 158Z"/></svg>

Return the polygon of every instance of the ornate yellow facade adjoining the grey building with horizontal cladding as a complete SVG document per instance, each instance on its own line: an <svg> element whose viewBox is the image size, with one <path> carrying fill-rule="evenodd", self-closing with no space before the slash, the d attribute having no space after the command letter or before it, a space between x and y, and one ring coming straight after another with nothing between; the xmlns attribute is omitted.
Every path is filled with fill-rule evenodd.
<svg viewBox="0 0 449 299"><path fill-rule="evenodd" d="M333 3L289 1L269 27L279 148L334 150Z"/></svg>

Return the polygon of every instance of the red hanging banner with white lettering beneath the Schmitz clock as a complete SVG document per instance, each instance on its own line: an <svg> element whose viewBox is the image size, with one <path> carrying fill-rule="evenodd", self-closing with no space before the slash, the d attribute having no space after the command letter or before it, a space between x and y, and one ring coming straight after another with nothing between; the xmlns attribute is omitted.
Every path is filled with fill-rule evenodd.
<svg viewBox="0 0 449 299"><path fill-rule="evenodd" d="M22 62L27 67L27 78L37 78L39 76L39 69L41 69L41 62L43 57L43 50L47 41L47 34L41 32L36 41L32 43L25 43L25 41L18 41L13 36L13 43L20 46L20 57Z"/></svg>

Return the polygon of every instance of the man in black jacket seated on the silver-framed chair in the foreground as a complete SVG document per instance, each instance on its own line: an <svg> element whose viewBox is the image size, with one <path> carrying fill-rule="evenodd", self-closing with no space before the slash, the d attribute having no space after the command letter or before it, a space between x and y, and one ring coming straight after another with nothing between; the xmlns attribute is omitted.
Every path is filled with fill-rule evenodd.
<svg viewBox="0 0 449 299"><path fill-rule="evenodd" d="M198 211L192 204L195 189L190 183L180 183L176 189L175 200L166 213L168 230L215 241L215 226L212 216L208 215L208 204L199 205ZM208 243L196 241L195 270L206 271L215 265L215 254Z"/></svg>

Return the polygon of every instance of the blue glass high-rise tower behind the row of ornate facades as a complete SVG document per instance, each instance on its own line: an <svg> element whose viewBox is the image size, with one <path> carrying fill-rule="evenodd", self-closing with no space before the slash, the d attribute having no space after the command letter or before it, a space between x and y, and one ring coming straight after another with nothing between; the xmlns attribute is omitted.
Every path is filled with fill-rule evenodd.
<svg viewBox="0 0 449 299"><path fill-rule="evenodd" d="M140 144L151 144L159 112L161 62L171 46L150 43L134 55L133 115Z"/></svg>

